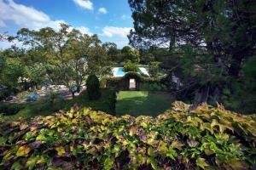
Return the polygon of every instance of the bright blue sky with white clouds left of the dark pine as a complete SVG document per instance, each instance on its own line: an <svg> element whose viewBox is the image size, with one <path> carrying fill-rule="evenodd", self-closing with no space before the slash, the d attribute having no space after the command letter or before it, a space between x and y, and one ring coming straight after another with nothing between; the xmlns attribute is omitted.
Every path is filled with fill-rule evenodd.
<svg viewBox="0 0 256 170"><path fill-rule="evenodd" d="M22 27L57 29L65 22L122 48L128 45L132 21L128 0L0 0L0 32L11 35ZM0 42L0 48L8 46Z"/></svg>

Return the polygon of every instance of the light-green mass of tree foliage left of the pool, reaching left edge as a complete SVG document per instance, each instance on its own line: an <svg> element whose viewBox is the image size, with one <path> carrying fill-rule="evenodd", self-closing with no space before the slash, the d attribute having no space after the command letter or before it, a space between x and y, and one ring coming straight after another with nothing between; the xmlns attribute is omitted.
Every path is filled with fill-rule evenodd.
<svg viewBox="0 0 256 170"><path fill-rule="evenodd" d="M111 73L106 44L72 26L22 28L9 39L24 45L0 51L0 85L10 92L61 84L74 93L74 87L79 91L90 74L103 77Z"/></svg>

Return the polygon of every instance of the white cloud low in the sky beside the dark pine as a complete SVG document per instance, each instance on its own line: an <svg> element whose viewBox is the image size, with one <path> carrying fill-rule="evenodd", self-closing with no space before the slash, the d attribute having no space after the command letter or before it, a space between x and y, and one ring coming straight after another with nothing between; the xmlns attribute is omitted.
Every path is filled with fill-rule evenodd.
<svg viewBox="0 0 256 170"><path fill-rule="evenodd" d="M131 27L115 27L115 26L105 26L102 31L102 36L106 37L113 37L113 36L119 36L119 37L127 37L127 35L130 33Z"/></svg>

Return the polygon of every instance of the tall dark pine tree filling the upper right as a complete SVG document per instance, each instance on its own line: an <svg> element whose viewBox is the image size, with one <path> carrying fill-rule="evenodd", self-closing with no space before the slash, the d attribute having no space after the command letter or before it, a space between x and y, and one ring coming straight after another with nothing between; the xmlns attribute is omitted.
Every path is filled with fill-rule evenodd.
<svg viewBox="0 0 256 170"><path fill-rule="evenodd" d="M243 60L255 54L255 1L129 3L134 20L134 30L129 35L131 46L167 47L170 57L177 54L177 66L173 68L182 72L184 88L194 88L193 94L200 92L198 102L210 99L210 93L215 96L218 88L230 88L241 76ZM188 53L189 48L192 54ZM229 78L230 83L225 81Z"/></svg>

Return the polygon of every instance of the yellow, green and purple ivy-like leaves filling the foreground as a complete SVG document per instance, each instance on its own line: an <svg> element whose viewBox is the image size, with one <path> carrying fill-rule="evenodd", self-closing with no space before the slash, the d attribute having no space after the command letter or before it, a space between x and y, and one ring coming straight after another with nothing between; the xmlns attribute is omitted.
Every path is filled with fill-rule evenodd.
<svg viewBox="0 0 256 170"><path fill-rule="evenodd" d="M75 107L1 124L0 168L255 169L253 116L175 102L157 117Z"/></svg>

